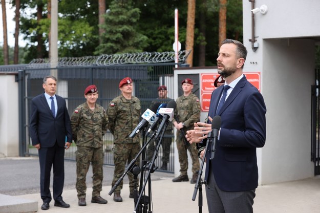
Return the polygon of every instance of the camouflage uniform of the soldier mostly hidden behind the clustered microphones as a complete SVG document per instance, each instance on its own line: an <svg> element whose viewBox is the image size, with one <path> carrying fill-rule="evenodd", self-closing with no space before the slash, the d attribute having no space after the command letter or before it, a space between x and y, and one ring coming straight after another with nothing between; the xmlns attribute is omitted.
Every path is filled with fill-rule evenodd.
<svg viewBox="0 0 320 213"><path fill-rule="evenodd" d="M150 109L152 109L153 105L156 102L161 102L161 103L168 103L171 99L161 99L161 98L157 98L156 100L152 101ZM159 127L159 124L158 126ZM162 138L162 142L161 142L161 146L162 146L162 158L161 161L162 163L169 163L169 159L170 159L170 146L172 143L172 130L173 130L173 125L172 123L168 123L166 130L164 132L164 136ZM147 157L146 160L147 161L151 161L153 154L156 150L156 144L155 141L150 141L149 145L148 145L148 149L147 149Z"/></svg>

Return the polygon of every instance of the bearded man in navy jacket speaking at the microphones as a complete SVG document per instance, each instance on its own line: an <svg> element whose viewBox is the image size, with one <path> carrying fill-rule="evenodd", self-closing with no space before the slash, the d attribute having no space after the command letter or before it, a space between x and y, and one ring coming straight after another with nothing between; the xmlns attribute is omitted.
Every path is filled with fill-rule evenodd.
<svg viewBox="0 0 320 213"><path fill-rule="evenodd" d="M261 93L243 75L247 50L240 41L226 39L219 51L218 73L224 86L211 95L208 116L221 116L216 152L201 152L206 159L206 196L209 212L253 212L255 188L258 187L256 149L266 139L266 107ZM209 122L210 123L210 122ZM197 123L187 132L187 140L206 145L211 124ZM205 133L205 134L204 134ZM204 135L203 135L204 134Z"/></svg>

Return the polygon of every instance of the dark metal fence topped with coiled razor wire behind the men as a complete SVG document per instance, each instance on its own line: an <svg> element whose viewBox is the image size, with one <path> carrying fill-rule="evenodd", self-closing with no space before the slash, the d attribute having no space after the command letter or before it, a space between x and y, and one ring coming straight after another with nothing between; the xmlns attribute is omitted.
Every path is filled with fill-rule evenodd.
<svg viewBox="0 0 320 213"><path fill-rule="evenodd" d="M48 75L58 78L57 94L66 99L69 114L86 101L84 89L95 84L99 90L97 103L105 109L110 101L120 95L119 81L131 77L134 81L134 96L141 101L141 113L151 107L158 97L157 88L165 85L168 98L173 97L173 68L187 66L185 59L190 51L143 52L133 54L113 54L86 57L64 57L56 61L34 59L28 65L0 66L0 72L18 72L16 81L19 91L19 155L38 155L29 137L29 117L31 99L43 93L42 79ZM178 63L176 61L178 59ZM173 135L164 137L174 138ZM104 137L104 164L113 165L113 135L107 132ZM76 146L66 151L65 158L75 160ZM161 166L162 149L158 152L156 166ZM171 145L170 162L166 172L174 172L174 143Z"/></svg>

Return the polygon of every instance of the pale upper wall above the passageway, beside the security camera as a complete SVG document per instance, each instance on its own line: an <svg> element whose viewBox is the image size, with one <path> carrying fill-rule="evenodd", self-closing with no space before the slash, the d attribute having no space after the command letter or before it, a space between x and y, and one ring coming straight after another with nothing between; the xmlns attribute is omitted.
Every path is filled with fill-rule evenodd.
<svg viewBox="0 0 320 213"><path fill-rule="evenodd" d="M251 3L242 1L244 25L249 24L248 31L243 31L244 40L251 37ZM268 12L255 14L255 30L258 41L264 38L287 38L318 36L320 18L318 0L255 0L255 7L266 5ZM249 34L248 34L249 33Z"/></svg>

